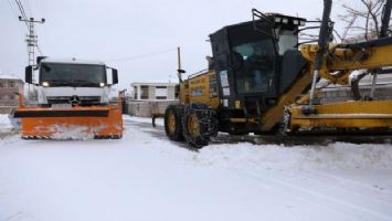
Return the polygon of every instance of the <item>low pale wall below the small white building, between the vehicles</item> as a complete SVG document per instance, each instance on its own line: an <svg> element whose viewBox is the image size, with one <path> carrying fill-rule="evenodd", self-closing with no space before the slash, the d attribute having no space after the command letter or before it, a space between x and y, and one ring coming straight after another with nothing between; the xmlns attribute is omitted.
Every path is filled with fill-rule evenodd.
<svg viewBox="0 0 392 221"><path fill-rule="evenodd" d="M179 101L129 102L125 109L131 116L152 117L152 114L165 114L171 104L179 104Z"/></svg>

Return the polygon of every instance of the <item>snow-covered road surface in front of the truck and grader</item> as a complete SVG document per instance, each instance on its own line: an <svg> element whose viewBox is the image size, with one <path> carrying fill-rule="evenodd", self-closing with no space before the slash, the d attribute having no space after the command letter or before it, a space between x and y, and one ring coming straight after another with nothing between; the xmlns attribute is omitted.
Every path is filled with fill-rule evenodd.
<svg viewBox="0 0 392 221"><path fill-rule="evenodd" d="M392 146L0 138L0 221L392 220ZM149 120L148 120L149 122Z"/></svg>

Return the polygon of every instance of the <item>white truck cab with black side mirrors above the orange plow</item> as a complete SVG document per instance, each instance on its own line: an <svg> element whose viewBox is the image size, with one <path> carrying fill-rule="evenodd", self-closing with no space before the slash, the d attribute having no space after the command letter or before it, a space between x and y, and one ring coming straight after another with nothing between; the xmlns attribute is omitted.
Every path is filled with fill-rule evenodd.
<svg viewBox="0 0 392 221"><path fill-rule="evenodd" d="M107 76L108 69L112 77ZM40 106L105 106L109 104L109 87L118 83L117 70L103 62L39 57L34 70ZM27 67L27 83L33 83L32 75L33 67Z"/></svg>

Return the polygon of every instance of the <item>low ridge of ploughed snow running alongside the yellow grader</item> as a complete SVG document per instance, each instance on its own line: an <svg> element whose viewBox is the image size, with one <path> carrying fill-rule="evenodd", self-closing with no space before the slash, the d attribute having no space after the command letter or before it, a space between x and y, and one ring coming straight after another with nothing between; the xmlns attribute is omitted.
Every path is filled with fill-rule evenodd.
<svg viewBox="0 0 392 221"><path fill-rule="evenodd" d="M392 169L391 145L354 145L336 143L328 146L211 145L200 150L204 164L264 168L351 168Z"/></svg>

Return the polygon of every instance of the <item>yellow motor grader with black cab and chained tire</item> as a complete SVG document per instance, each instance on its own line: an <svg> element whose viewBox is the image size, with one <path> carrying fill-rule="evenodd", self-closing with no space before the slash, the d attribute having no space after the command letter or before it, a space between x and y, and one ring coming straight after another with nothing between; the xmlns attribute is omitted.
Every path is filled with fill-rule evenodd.
<svg viewBox="0 0 392 221"><path fill-rule="evenodd" d="M200 148L218 131L390 134L392 101L319 104L315 95L320 78L348 85L354 72L379 73L392 65L392 38L386 34L391 2L384 7L381 38L360 43L331 43L331 0L324 1L317 43L298 43L306 19L255 9L253 21L212 33L211 69L186 80L178 70L180 104L166 109L167 136Z"/></svg>

